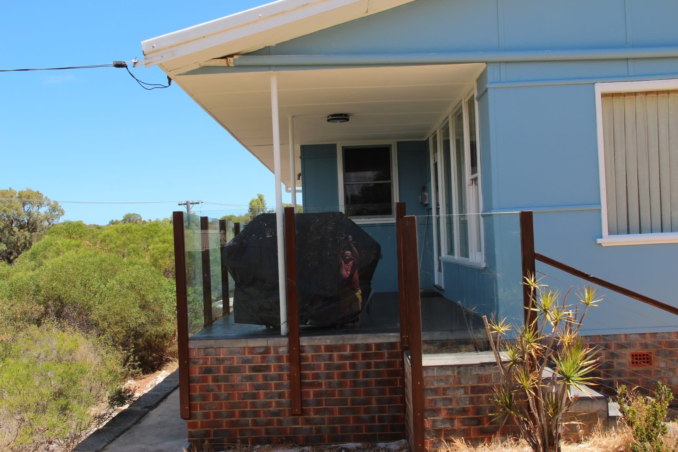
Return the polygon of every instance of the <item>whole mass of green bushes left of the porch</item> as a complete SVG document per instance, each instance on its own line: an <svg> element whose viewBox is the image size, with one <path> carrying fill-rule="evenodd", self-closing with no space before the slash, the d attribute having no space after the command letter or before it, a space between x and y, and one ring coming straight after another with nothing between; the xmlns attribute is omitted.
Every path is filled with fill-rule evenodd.
<svg viewBox="0 0 678 452"><path fill-rule="evenodd" d="M70 450L123 405L176 356L175 300L169 220L64 222L0 262L0 450Z"/></svg>

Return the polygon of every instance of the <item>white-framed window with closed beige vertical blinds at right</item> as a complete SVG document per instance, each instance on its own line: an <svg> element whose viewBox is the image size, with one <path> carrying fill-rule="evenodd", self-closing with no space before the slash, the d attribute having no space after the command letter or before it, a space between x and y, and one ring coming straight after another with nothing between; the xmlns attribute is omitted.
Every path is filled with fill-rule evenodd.
<svg viewBox="0 0 678 452"><path fill-rule="evenodd" d="M678 241L678 81L599 83L596 89L603 207L598 242Z"/></svg>

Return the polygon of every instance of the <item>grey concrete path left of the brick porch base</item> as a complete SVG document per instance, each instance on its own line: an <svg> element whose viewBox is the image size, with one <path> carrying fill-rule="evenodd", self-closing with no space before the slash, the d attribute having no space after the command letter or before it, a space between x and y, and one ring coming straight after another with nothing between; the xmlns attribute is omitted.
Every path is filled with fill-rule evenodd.
<svg viewBox="0 0 678 452"><path fill-rule="evenodd" d="M179 417L179 390L106 446L105 452L180 452L186 446L186 421Z"/></svg>

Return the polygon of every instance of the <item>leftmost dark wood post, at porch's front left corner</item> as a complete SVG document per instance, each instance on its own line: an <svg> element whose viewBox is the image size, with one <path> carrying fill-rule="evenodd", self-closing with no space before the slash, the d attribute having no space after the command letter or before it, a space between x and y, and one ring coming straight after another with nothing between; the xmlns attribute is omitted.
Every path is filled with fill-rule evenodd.
<svg viewBox="0 0 678 452"><path fill-rule="evenodd" d="M188 306L186 300L186 245L184 213L172 213L174 226L174 281L176 281L176 335L179 359L179 414L191 417L188 405Z"/></svg>

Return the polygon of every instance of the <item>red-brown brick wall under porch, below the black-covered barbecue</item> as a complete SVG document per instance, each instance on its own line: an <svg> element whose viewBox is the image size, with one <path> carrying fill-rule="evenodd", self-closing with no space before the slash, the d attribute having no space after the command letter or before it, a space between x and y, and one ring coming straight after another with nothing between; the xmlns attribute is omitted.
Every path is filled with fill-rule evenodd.
<svg viewBox="0 0 678 452"><path fill-rule="evenodd" d="M302 345L301 416L291 413L287 346L188 351L188 438L194 443L311 444L404 438L399 342Z"/></svg>

